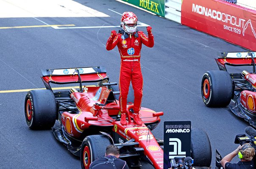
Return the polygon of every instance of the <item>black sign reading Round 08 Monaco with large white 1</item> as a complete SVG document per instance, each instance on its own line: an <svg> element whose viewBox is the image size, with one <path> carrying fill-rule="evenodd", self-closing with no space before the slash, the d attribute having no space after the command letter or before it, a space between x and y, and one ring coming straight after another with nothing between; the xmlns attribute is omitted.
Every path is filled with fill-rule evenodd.
<svg viewBox="0 0 256 169"><path fill-rule="evenodd" d="M190 156L191 121L164 122L164 169L175 157Z"/></svg>

